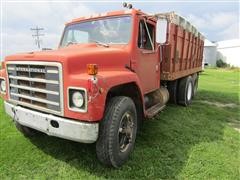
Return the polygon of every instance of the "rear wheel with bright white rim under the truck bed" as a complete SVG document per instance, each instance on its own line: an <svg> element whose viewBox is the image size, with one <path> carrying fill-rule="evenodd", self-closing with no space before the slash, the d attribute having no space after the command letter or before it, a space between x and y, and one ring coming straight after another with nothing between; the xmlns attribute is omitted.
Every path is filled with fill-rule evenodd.
<svg viewBox="0 0 240 180"><path fill-rule="evenodd" d="M191 76L180 79L178 86L178 104L188 106L193 97L193 80Z"/></svg>

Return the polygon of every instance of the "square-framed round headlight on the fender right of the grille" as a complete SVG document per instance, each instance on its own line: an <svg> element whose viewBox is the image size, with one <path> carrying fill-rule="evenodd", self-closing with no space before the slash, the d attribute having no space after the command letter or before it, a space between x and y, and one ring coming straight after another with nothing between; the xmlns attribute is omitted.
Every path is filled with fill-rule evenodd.
<svg viewBox="0 0 240 180"><path fill-rule="evenodd" d="M87 112L87 91L84 88L68 89L68 108L71 111Z"/></svg>

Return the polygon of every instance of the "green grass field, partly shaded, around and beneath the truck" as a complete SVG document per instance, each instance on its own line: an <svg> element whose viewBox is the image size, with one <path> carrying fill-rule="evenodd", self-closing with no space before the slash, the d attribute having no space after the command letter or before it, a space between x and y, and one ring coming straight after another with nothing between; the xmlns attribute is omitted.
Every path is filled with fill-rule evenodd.
<svg viewBox="0 0 240 180"><path fill-rule="evenodd" d="M192 106L169 105L144 123L120 169L103 167L95 145L25 138L0 101L0 179L239 179L239 71L207 69Z"/></svg>

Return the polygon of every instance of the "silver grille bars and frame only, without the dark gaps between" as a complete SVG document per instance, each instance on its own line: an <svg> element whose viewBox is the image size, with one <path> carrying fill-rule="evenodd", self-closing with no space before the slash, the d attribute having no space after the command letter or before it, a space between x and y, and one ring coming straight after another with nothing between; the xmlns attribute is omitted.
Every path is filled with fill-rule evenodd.
<svg viewBox="0 0 240 180"><path fill-rule="evenodd" d="M7 66L7 81L8 81L8 92L9 92L9 101L14 103L14 104L19 104L22 106L26 106L32 109L36 109L36 110L40 110L43 112L48 112L48 113L52 113L52 114L56 114L56 115L63 115L63 82L62 82L62 65L60 63L55 63L55 62L41 62L41 61L10 61L6 63ZM15 69L14 67L15 66ZM47 70L46 73L58 73L58 81L57 80L48 80L48 79L43 79L43 78L33 78L33 77L24 77L24 76L14 76L11 75L11 73L9 74L9 72L17 72L17 66L45 66L45 67L57 67L58 71L56 70ZM34 69L34 68L33 68ZM23 72L27 72L26 69L22 69ZM29 69L30 70L30 69ZM21 69L20 69L21 71ZM30 71L29 71L30 73ZM40 72L40 73L45 73L45 72ZM58 85L58 90L57 91L52 91L52 90L48 90L48 89L42 89L42 88L36 88L36 87L31 87L31 86L26 86L26 85L19 85L18 83L14 84L14 83L10 83L11 80L21 80L21 81L25 81L25 82L29 82L30 84L32 82L36 82L36 83L49 83L49 84L56 84ZM43 99L43 98L39 98L39 97L33 97L31 95L25 95L25 94L20 94L20 93L14 93L14 92L10 92L11 88L17 88L17 89L21 89L21 90L26 90L31 92L38 92L38 93L45 93L45 94L50 94L50 95L57 95L59 97L59 101L55 102L55 101L50 101L47 99ZM59 110L53 110L51 108L46 108L46 107L42 107L39 105L34 105L32 103L28 103L28 102L23 102L20 100L16 100L11 98L12 96L16 97L16 98L24 98L29 100L30 102L38 102L38 103L44 103L47 105L52 105L52 106L56 106L59 107Z"/></svg>

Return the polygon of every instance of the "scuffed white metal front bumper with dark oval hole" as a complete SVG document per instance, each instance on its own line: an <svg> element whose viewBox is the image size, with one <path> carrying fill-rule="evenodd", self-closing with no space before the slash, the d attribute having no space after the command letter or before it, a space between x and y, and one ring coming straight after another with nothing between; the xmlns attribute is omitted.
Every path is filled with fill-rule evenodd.
<svg viewBox="0 0 240 180"><path fill-rule="evenodd" d="M49 136L56 136L83 143L93 143L98 138L99 124L78 122L16 106L4 101L5 111L23 126L36 129Z"/></svg>

